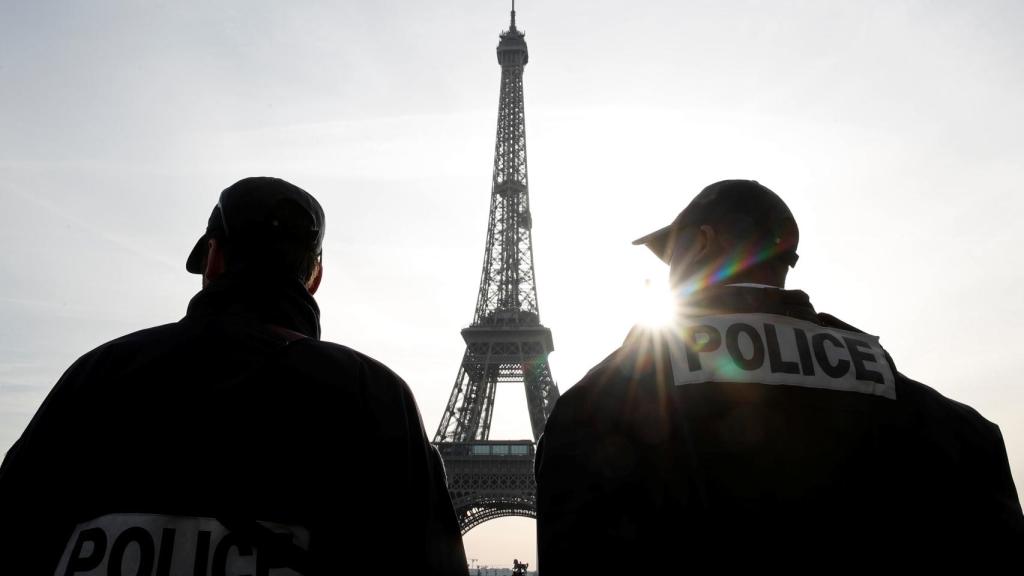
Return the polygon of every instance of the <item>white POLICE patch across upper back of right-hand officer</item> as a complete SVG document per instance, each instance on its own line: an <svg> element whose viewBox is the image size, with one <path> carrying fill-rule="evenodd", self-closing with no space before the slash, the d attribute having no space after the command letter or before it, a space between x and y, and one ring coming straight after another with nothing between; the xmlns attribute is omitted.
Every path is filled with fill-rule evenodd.
<svg viewBox="0 0 1024 576"><path fill-rule="evenodd" d="M677 385L760 382L856 392L896 400L878 336L768 314L689 319L673 334Z"/></svg>

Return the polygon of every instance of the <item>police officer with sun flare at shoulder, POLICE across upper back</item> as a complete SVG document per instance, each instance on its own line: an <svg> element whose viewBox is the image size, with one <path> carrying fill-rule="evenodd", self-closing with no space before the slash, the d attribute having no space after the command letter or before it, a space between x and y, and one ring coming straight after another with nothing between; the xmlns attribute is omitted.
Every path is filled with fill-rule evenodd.
<svg viewBox="0 0 1024 576"><path fill-rule="evenodd" d="M798 241L772 191L725 180L635 242L669 263L680 314L634 328L548 420L546 576L1019 560L998 427L785 290Z"/></svg>

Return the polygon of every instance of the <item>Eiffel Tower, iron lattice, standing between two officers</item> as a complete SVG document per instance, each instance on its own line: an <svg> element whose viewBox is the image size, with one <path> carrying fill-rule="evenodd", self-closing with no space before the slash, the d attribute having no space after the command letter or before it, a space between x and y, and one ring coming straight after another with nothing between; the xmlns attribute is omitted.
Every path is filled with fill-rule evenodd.
<svg viewBox="0 0 1024 576"><path fill-rule="evenodd" d="M537 518L536 442L558 400L548 366L554 343L541 324L534 274L522 106L527 59L513 0L511 25L498 43L502 82L480 291L473 323L462 331L466 354L434 436L463 534L496 518ZM525 386L532 440L489 440L499 383Z"/></svg>

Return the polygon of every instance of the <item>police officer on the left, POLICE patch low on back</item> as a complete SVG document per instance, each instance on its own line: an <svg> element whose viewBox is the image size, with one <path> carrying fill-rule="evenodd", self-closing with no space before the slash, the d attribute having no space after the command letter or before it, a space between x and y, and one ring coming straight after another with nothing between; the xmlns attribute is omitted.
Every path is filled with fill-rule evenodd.
<svg viewBox="0 0 1024 576"><path fill-rule="evenodd" d="M245 178L181 321L79 359L0 468L0 574L465 574L440 458L387 367L321 340L324 211Z"/></svg>

